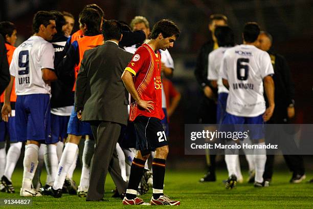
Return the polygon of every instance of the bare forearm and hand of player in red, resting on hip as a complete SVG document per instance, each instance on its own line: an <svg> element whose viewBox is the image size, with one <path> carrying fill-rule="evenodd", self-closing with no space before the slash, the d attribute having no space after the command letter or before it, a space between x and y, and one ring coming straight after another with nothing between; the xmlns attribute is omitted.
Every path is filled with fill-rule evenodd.
<svg viewBox="0 0 313 209"><path fill-rule="evenodd" d="M136 91L135 84L133 83L131 72L125 70L123 72L121 78L124 82L124 85L125 85L127 91L130 93L131 97L136 100L139 107L145 109L149 113L151 112L150 109L154 110L153 101L145 101L145 100L140 98L138 92Z"/></svg>

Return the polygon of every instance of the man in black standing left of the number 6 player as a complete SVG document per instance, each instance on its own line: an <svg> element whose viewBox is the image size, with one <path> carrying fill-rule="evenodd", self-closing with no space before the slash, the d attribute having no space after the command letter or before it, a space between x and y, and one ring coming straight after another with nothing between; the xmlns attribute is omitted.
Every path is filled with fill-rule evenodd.
<svg viewBox="0 0 313 209"><path fill-rule="evenodd" d="M216 103L214 97L217 95L217 89L213 88L208 80L208 56L211 51L218 48L214 29L216 26L227 25L227 17L222 14L212 14L210 16L209 30L211 36L198 54L194 75L202 90L202 101L200 102L198 122L203 124L216 123ZM214 93L215 92L215 93ZM200 182L215 181L215 157L216 155L206 154L208 173L200 179Z"/></svg>

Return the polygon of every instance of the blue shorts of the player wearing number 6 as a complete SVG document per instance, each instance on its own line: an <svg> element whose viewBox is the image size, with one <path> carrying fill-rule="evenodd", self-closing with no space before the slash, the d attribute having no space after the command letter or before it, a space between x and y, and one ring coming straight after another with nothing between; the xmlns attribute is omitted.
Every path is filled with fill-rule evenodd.
<svg viewBox="0 0 313 209"><path fill-rule="evenodd" d="M264 139L265 137L265 126L262 115L256 117L240 117L229 114L226 112L222 125L233 124L235 126L223 126L222 129L225 131L225 128L231 129L232 132L244 132L248 131L251 140ZM247 126L244 126L247 124Z"/></svg>

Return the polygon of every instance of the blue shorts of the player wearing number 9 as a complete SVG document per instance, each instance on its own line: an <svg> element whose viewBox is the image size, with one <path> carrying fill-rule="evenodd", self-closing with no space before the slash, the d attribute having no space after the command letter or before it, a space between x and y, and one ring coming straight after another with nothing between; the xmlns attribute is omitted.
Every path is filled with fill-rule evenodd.
<svg viewBox="0 0 313 209"><path fill-rule="evenodd" d="M17 140L53 143L50 116L49 94L18 95L15 103Z"/></svg>

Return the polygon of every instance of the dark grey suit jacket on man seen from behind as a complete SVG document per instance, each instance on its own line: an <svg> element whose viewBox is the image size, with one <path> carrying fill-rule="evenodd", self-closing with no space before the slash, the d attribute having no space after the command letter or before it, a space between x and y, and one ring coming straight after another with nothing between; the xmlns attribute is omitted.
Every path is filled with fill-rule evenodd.
<svg viewBox="0 0 313 209"><path fill-rule="evenodd" d="M75 110L83 110L82 121L127 124L128 92L121 75L131 58L110 41L84 53L75 90Z"/></svg>

